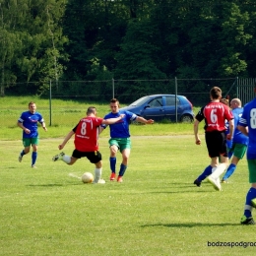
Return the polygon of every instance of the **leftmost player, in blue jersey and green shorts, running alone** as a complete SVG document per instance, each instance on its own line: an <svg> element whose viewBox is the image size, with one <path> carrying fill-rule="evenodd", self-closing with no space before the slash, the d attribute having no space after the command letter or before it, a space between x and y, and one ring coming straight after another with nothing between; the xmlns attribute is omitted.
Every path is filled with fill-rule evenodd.
<svg viewBox="0 0 256 256"><path fill-rule="evenodd" d="M37 122L39 122L46 132L44 120L40 113L36 112L36 105L34 102L29 103L29 111L23 112L18 120L18 126L23 129L23 145L24 150L19 156L19 161L23 160L23 156L28 154L32 146L32 168L35 167L35 161L37 159L37 145L38 145L38 132Z"/></svg>

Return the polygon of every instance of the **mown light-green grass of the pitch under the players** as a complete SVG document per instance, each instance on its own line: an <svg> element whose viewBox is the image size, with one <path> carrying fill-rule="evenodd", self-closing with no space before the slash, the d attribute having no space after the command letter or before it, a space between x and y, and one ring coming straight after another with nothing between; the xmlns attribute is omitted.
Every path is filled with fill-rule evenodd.
<svg viewBox="0 0 256 256"><path fill-rule="evenodd" d="M21 141L0 141L0 255L255 254L254 247L207 245L255 242L255 227L239 224L249 187L246 160L216 192L205 182L193 185L210 161L204 142L196 146L192 135L134 136L118 184L108 181L107 138L100 138L106 184L83 184L69 174L93 172L94 165L51 161L61 141L40 140L37 169L31 154L18 161ZM72 151L70 141L65 153Z"/></svg>

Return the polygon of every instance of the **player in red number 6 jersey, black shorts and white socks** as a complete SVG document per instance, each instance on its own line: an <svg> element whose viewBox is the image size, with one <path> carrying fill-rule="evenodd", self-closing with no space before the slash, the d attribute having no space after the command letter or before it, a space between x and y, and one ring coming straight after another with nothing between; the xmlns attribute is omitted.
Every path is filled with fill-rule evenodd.
<svg viewBox="0 0 256 256"><path fill-rule="evenodd" d="M226 151L226 139L231 140L233 133L233 116L229 107L220 102L222 98L222 90L214 87L210 91L211 102L200 109L196 115L194 122L194 135L196 145L201 145L198 135L199 123L205 119L205 139L209 157L211 158L210 168L212 173L208 176L208 181L216 190L221 191L220 176L224 172L228 164ZM229 134L225 135L225 120L229 125ZM219 164L219 157L221 163ZM209 166L208 166L209 167Z"/></svg>

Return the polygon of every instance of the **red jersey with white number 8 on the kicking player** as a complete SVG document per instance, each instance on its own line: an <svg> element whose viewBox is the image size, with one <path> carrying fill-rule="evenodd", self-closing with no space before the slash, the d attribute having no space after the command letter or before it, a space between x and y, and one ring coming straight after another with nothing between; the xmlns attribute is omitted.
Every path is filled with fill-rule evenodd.
<svg viewBox="0 0 256 256"><path fill-rule="evenodd" d="M99 117L84 117L73 129L75 132L75 148L81 152L94 152L98 150L98 129L102 123Z"/></svg>

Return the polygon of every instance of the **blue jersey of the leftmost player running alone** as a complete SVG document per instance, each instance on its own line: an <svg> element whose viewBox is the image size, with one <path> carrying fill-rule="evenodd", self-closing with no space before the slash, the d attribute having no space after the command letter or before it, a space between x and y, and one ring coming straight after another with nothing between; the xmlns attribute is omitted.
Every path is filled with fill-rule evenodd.
<svg viewBox="0 0 256 256"><path fill-rule="evenodd" d="M37 122L42 123L44 120L40 113L32 113L31 111L26 111L22 113L18 122L23 123L24 127L31 130L30 134L27 134L25 131L23 131L23 138L36 138L38 137Z"/></svg>

